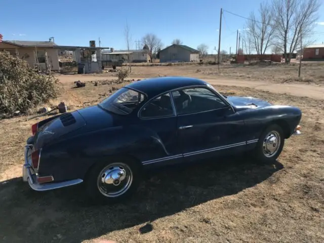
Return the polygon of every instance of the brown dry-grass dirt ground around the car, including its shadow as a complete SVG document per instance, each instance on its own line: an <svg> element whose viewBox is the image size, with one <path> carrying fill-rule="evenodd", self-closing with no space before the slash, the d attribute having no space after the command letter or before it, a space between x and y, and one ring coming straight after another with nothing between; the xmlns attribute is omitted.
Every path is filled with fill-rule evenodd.
<svg viewBox="0 0 324 243"><path fill-rule="evenodd" d="M155 67L149 68L153 69L145 72L146 77L176 75L173 69L154 74ZM143 77L141 70L132 75ZM194 72L190 70L180 75L190 75ZM100 75L107 79L107 74ZM102 79L100 75L97 79ZM87 76L94 79L85 76L83 81ZM61 79L62 97L53 103L64 100L70 109L96 104L112 87L122 86L102 80L98 86L87 82L85 88L73 89L72 82L79 79L66 77L70 79ZM306 97L307 91L292 96L249 87L215 87L227 95L300 107L302 135L286 140L273 165L236 157L198 161L148 176L124 204L94 207L85 203L82 186L44 193L29 190L21 178L23 146L37 119L1 120L0 241L324 242L324 102Z"/></svg>

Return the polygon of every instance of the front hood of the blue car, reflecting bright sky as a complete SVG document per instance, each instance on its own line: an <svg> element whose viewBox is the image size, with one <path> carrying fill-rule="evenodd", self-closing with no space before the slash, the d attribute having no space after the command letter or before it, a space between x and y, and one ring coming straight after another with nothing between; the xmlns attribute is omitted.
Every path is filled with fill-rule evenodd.
<svg viewBox="0 0 324 243"><path fill-rule="evenodd" d="M253 97L228 96L227 100L235 107L236 110L254 109L259 107L270 106L265 100Z"/></svg>

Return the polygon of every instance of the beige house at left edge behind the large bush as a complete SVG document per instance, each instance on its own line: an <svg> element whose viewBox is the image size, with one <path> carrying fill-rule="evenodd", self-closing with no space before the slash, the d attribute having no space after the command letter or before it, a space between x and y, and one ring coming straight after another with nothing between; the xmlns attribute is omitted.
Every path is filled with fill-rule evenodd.
<svg viewBox="0 0 324 243"><path fill-rule="evenodd" d="M59 70L58 46L54 42L34 41L3 41L0 51L8 51L11 55L26 60L30 67L39 67L41 70L50 68Z"/></svg>

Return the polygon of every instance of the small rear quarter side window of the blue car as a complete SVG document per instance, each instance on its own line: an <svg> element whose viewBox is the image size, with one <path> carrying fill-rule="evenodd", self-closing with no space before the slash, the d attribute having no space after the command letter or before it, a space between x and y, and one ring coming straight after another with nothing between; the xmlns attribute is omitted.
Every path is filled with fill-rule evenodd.
<svg viewBox="0 0 324 243"><path fill-rule="evenodd" d="M157 118L172 115L174 115L174 110L169 93L149 101L140 112L141 118Z"/></svg>

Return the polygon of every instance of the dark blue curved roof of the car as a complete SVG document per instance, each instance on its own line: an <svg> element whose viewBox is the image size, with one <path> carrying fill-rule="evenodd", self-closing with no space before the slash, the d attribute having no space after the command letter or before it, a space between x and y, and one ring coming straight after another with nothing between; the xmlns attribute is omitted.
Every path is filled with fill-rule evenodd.
<svg viewBox="0 0 324 243"><path fill-rule="evenodd" d="M174 90L186 86L195 86L208 84L198 78L168 76L168 77L154 77L143 79L127 85L127 88L138 90L145 93L148 98L152 98L159 94L165 93L169 90Z"/></svg>

